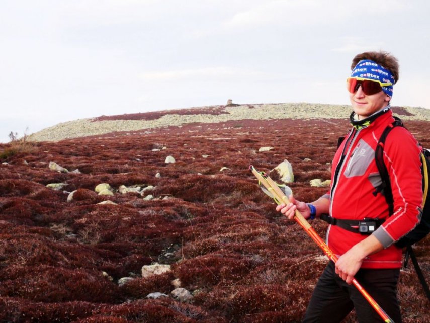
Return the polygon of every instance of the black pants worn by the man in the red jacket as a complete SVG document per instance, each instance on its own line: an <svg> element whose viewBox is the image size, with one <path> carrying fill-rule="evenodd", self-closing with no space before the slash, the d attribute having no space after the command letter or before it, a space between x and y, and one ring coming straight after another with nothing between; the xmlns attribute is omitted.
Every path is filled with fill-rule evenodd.
<svg viewBox="0 0 430 323"><path fill-rule="evenodd" d="M399 269L360 269L355 278L395 323L401 323L397 301ZM336 323L355 308L360 323L383 322L354 285L348 285L334 271L334 263L325 268L306 309L303 323Z"/></svg>

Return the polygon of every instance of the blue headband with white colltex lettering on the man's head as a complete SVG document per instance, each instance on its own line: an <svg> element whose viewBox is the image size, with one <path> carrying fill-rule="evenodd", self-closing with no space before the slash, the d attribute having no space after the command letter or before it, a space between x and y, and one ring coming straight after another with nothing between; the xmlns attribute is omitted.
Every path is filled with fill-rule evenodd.
<svg viewBox="0 0 430 323"><path fill-rule="evenodd" d="M390 98L393 96L393 74L373 60L363 59L359 61L356 67L354 67L351 77L362 77L370 80L378 80L381 83L391 83L391 85L382 87L382 91L389 95Z"/></svg>

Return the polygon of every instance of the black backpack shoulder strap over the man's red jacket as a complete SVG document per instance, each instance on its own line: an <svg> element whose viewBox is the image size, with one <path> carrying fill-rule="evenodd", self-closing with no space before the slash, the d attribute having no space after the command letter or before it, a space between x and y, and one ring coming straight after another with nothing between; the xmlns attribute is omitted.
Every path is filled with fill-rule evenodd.
<svg viewBox="0 0 430 323"><path fill-rule="evenodd" d="M391 191L391 183L390 176L388 174L387 167L384 163L384 145L385 140L387 139L388 134L395 127L404 127L403 122L398 117L394 117L395 121L388 125L384 131L382 132L381 137L379 138L378 144L375 149L375 162L378 167L379 175L381 176L382 183L375 188L373 195L377 195L378 193L384 194L385 200L387 201L390 215L394 213L394 199L393 192Z"/></svg>

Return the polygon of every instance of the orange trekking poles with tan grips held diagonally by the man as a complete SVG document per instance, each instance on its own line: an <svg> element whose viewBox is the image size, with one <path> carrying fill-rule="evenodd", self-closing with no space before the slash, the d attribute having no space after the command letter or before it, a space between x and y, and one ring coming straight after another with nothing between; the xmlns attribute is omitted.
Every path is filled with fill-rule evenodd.
<svg viewBox="0 0 430 323"><path fill-rule="evenodd" d="M290 203L288 197L284 194L284 192L280 189L278 184L276 184L267 174L258 172L252 165L249 166L249 170L255 177L259 180L259 184L263 184L263 186L273 194L275 202L277 204ZM313 227L309 224L309 222L303 217L303 215L296 210L294 215L294 220L300 224L300 226L306 231L306 233L315 241L315 243L322 249L325 255L332 260L334 263L337 261L336 255L328 248L328 246L324 243L321 237L316 233ZM375 311L381 316L385 323L394 323L394 321L388 316L388 314L379 306L379 304L373 299L372 296L359 284L359 282L353 278L353 285L359 290L359 292L363 295L363 297L369 302L369 304L375 309Z"/></svg>

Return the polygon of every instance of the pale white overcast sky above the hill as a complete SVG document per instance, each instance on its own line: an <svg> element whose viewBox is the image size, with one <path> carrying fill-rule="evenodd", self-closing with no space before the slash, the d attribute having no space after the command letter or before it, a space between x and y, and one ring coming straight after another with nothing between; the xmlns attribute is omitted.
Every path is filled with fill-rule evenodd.
<svg viewBox="0 0 430 323"><path fill-rule="evenodd" d="M60 122L234 103L349 104L359 52L430 108L430 2L1 0L0 141Z"/></svg>

